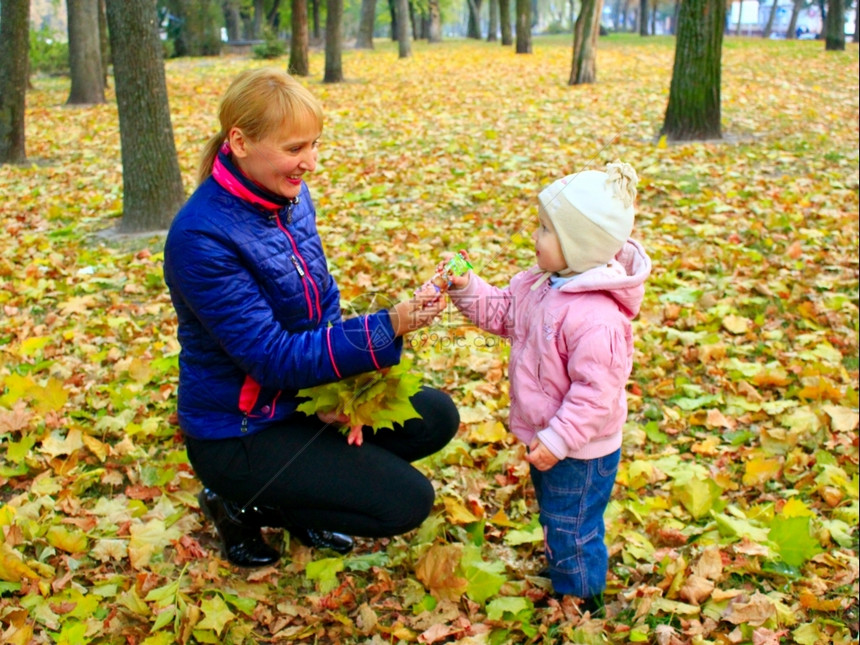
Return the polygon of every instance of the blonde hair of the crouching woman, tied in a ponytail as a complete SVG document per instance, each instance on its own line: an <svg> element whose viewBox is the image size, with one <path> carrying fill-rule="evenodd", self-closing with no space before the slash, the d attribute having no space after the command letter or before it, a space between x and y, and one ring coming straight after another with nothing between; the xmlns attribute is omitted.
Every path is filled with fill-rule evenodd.
<svg viewBox="0 0 860 645"><path fill-rule="evenodd" d="M277 130L304 128L312 124L322 132L323 112L307 88L284 71L273 67L239 74L221 98L218 108L221 130L210 137L200 157L197 182L212 174L218 150L233 128L251 141L260 141Z"/></svg>

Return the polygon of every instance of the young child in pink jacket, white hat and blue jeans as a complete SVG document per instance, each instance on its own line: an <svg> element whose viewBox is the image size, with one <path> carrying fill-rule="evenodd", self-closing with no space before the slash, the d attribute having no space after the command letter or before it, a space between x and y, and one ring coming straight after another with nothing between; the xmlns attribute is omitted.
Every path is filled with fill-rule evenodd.
<svg viewBox="0 0 860 645"><path fill-rule="evenodd" d="M629 239L636 171L611 163L538 195L537 266L505 289L473 273L449 295L482 329L511 339L510 428L528 446L556 597L603 611L609 503L627 418L630 321L651 261Z"/></svg>

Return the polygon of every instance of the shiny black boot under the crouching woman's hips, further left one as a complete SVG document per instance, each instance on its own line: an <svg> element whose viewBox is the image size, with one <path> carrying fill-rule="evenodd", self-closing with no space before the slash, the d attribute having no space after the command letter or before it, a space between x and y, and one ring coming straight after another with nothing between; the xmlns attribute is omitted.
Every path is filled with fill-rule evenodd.
<svg viewBox="0 0 860 645"><path fill-rule="evenodd" d="M224 555L237 567L263 567L281 559L280 554L266 544L260 527L242 522L228 508L229 502L204 488L197 496L200 510L215 525Z"/></svg>

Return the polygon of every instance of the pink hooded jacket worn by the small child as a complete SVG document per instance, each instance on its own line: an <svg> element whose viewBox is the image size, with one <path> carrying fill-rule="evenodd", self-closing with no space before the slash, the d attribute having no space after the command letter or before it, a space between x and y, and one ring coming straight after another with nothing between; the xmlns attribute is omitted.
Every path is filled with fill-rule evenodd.
<svg viewBox="0 0 860 645"><path fill-rule="evenodd" d="M650 272L645 250L628 240L608 265L557 289L532 267L505 289L472 274L467 287L449 291L474 324L512 341L509 424L521 441L537 435L559 459L596 459L621 447L630 321Z"/></svg>

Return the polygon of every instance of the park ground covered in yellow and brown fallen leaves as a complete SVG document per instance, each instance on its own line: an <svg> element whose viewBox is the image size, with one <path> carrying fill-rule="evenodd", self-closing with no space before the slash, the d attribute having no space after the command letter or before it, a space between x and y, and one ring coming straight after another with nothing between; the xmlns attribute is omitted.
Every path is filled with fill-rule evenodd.
<svg viewBox="0 0 860 645"><path fill-rule="evenodd" d="M343 558L294 542L277 567L226 563L173 416L162 238L96 235L121 209L115 106L64 107L68 79L35 78L33 163L0 168L0 641L856 642L857 46L729 39L726 141L669 146L671 40L601 39L586 87L566 85L570 53L538 38L530 56L447 42L398 60L378 43L345 53L339 85L315 54L311 185L344 306L363 311L448 250L503 283L532 261L540 187L616 158L639 170L655 269L606 517L608 617L539 606L507 347L454 314L412 338L463 421L421 465L432 518ZM189 190L218 97L260 64L167 64Z"/></svg>

